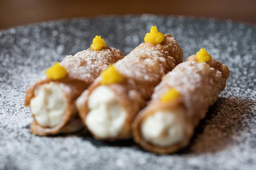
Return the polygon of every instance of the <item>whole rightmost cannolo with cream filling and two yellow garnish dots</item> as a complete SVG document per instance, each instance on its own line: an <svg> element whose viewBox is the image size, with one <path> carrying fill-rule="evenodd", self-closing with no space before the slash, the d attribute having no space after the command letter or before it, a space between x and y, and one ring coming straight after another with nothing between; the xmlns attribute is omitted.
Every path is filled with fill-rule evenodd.
<svg viewBox="0 0 256 170"><path fill-rule="evenodd" d="M189 144L194 129L226 87L229 69L205 49L163 76L149 104L132 123L134 141L155 153Z"/></svg>

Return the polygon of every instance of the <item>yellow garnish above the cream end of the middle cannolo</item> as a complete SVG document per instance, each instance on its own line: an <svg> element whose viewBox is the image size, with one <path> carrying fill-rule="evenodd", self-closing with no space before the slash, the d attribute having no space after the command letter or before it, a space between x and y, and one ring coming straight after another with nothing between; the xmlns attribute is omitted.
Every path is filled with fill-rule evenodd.
<svg viewBox="0 0 256 170"><path fill-rule="evenodd" d="M111 65L106 70L102 71L101 76L102 79L100 83L102 85L122 83L124 80L123 76L115 69L114 65Z"/></svg>

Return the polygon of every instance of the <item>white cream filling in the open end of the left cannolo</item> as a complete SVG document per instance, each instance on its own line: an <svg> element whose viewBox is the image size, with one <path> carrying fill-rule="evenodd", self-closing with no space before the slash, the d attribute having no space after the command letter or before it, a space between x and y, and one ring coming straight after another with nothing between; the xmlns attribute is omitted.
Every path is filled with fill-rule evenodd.
<svg viewBox="0 0 256 170"><path fill-rule="evenodd" d="M34 95L30 108L39 125L55 127L64 120L67 103L58 84L43 84L35 90Z"/></svg>

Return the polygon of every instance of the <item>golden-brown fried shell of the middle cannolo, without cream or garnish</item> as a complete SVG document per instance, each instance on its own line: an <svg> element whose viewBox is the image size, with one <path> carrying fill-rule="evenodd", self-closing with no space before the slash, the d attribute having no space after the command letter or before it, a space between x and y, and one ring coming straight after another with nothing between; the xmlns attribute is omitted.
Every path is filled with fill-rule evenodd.
<svg viewBox="0 0 256 170"><path fill-rule="evenodd" d="M166 34L161 44L142 43L115 64L116 70L124 77L125 81L121 84L108 85L108 87L119 96L120 103L123 104L127 112L127 117L123 131L118 136L106 140L131 137L131 123L134 117L146 105L162 76L171 71L176 64L181 63L182 57L183 52L176 39ZM88 98L100 85L100 80L101 77L97 78L89 87L88 92L82 94L76 102L79 115L84 123L89 112ZM99 136L93 135L95 138L101 139Z"/></svg>

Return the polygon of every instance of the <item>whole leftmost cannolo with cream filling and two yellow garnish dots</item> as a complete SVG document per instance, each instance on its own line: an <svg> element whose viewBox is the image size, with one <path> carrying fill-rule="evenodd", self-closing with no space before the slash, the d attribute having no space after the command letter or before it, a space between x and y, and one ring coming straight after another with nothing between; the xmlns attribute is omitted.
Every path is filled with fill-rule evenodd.
<svg viewBox="0 0 256 170"><path fill-rule="evenodd" d="M55 135L75 132L84 127L75 101L102 70L124 58L120 50L108 47L100 36L93 39L88 50L66 56L46 72L46 76L31 85L25 97L34 122L34 135Z"/></svg>

